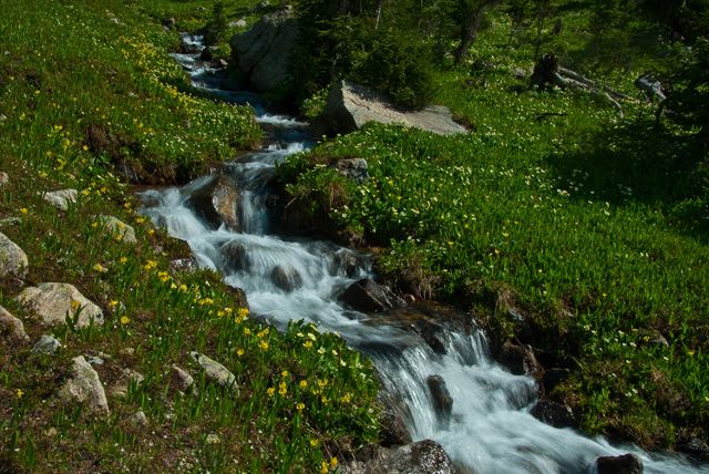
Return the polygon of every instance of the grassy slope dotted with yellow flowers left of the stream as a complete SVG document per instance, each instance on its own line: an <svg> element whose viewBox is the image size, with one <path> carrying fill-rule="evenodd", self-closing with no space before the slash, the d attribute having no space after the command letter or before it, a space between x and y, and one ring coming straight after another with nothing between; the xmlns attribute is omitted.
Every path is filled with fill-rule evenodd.
<svg viewBox="0 0 709 474"><path fill-rule="evenodd" d="M32 341L49 332L62 342L44 356L1 339L2 472L325 472L377 435L368 361L327 331L295 324L277 333L253 321L243 296L209 271L171 270L188 249L136 215L112 173L126 163L143 181L182 181L259 138L250 110L189 93L165 52L178 37L146 12L194 24L208 13L174 4L175 12L158 1L3 1L0 169L10 183L0 187L0 231L28 254L28 285L71 282L106 323L44 329L17 301L21 288L0 281L0 305ZM66 187L80 190L69 210L43 200ZM105 231L97 215L134 226L138 243ZM232 370L238 392L207 382L193 350ZM107 419L56 395L71 359L88 351L105 354L96 370ZM194 396L175 389L172 364L195 375ZM145 381L129 382L125 369ZM114 398L121 385L125 396ZM138 410L145 427L129 421ZM212 433L220 442L210 443Z"/></svg>

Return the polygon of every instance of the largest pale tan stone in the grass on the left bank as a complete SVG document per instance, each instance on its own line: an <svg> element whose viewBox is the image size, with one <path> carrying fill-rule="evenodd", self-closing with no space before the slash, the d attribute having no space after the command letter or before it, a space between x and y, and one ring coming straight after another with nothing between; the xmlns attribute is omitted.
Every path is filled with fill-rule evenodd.
<svg viewBox="0 0 709 474"><path fill-rule="evenodd" d="M79 308L76 326L86 327L93 320L95 326L103 326L103 311L86 299L79 290L69 284L39 284L37 287L25 288L18 297L20 302L42 318L44 326L64 324L66 316L73 318ZM72 307L76 302L76 308Z"/></svg>

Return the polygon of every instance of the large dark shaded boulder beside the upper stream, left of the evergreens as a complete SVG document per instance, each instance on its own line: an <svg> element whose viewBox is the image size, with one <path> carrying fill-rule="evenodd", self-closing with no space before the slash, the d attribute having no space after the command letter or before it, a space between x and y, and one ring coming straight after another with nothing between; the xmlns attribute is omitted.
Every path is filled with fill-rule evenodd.
<svg viewBox="0 0 709 474"><path fill-rule="evenodd" d="M298 23L290 11L264 16L250 30L229 39L233 63L257 91L270 91L290 76L288 56L297 35Z"/></svg>

